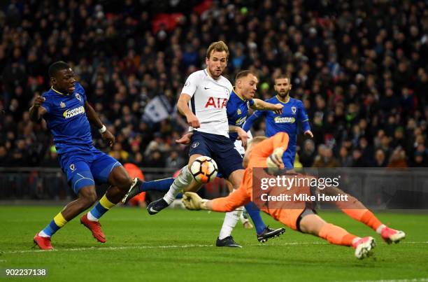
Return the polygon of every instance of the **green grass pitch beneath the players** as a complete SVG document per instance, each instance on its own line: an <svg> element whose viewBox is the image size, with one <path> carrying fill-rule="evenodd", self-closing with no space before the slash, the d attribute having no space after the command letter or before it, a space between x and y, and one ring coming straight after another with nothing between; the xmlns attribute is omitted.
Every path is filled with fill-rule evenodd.
<svg viewBox="0 0 428 282"><path fill-rule="evenodd" d="M377 241L374 255L357 260L351 248L287 228L259 244L254 230L238 223L234 238L243 248L214 246L222 213L167 209L148 216L137 208L115 208L102 218L107 243L99 244L78 218L53 237L56 251L42 252L32 238L62 208L0 207L0 269L45 268L48 276L4 281L364 281L428 279L426 213L378 213L407 238L387 245L368 227L341 212L322 211L331 223ZM264 215L267 224L280 223Z"/></svg>

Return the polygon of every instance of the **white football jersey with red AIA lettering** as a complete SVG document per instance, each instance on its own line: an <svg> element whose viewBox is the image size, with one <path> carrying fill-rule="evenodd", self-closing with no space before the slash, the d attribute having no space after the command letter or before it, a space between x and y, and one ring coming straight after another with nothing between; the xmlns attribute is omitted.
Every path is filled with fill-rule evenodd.
<svg viewBox="0 0 428 282"><path fill-rule="evenodd" d="M197 116L201 127L190 127L189 130L229 137L226 104L231 90L232 85L224 76L214 80L206 69L190 74L181 94L192 97L189 108Z"/></svg>

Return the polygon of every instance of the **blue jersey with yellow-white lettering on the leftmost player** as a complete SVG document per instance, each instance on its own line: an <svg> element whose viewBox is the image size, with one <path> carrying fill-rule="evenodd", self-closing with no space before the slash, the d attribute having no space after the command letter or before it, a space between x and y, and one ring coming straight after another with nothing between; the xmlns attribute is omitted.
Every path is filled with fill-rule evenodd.
<svg viewBox="0 0 428 282"><path fill-rule="evenodd" d="M41 106L47 113L43 116L54 137L58 154L91 148L90 122L85 113L86 94L82 85L76 83L73 94L62 94L51 88L43 93Z"/></svg>

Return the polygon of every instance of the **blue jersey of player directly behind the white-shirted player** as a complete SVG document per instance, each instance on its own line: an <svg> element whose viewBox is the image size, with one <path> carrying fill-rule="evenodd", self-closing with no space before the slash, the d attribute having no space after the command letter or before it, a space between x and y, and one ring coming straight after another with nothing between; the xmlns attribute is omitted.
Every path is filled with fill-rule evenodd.
<svg viewBox="0 0 428 282"><path fill-rule="evenodd" d="M242 127L247 119L248 108L254 105L252 99L245 100L236 94L234 90L230 93L229 101L227 101L226 111L227 111L227 120L229 125L236 125L237 127ZM233 141L238 138L236 132L229 133L229 138Z"/></svg>

